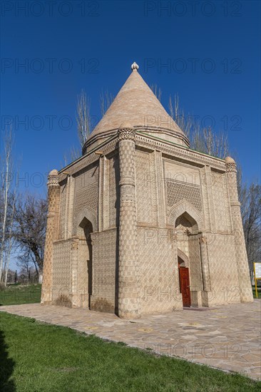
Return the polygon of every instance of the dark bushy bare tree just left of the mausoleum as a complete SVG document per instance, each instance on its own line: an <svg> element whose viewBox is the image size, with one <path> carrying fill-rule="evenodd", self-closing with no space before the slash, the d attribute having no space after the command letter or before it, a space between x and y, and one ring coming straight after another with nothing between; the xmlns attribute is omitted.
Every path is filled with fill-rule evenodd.
<svg viewBox="0 0 261 392"><path fill-rule="evenodd" d="M26 195L16 202L14 210L14 237L21 254L19 260L30 260L36 267L41 283L44 265L44 241L48 205L45 199Z"/></svg>

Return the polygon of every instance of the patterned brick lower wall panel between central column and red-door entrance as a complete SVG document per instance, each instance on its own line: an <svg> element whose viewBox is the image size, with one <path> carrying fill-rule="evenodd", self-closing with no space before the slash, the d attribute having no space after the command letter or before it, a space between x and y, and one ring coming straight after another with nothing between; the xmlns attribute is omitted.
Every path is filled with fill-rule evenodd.
<svg viewBox="0 0 261 392"><path fill-rule="evenodd" d="M172 230L138 227L138 255L141 313L182 309L178 256Z"/></svg>

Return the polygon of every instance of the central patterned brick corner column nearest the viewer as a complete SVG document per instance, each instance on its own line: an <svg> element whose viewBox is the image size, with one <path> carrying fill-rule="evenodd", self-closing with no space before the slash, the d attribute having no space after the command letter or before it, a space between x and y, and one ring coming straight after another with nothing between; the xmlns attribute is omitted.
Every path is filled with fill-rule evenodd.
<svg viewBox="0 0 261 392"><path fill-rule="evenodd" d="M135 205L135 130L118 130L120 162L120 225L118 249L118 316L140 316L140 278Z"/></svg>

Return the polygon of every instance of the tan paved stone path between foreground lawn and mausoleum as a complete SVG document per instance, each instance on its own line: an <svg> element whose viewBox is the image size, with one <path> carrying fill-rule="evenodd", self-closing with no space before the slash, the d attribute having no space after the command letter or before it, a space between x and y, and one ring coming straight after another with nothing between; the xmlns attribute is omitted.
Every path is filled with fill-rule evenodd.
<svg viewBox="0 0 261 392"><path fill-rule="evenodd" d="M40 304L1 306L0 311L260 379L260 305L257 299L252 304L186 309L135 320Z"/></svg>

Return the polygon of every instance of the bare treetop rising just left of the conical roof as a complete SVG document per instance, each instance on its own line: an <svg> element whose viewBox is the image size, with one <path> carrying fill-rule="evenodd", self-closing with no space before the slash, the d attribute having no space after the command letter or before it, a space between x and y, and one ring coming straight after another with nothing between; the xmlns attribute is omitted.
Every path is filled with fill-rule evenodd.
<svg viewBox="0 0 261 392"><path fill-rule="evenodd" d="M78 138L80 140L81 147L83 147L86 142L88 135L91 133L91 110L90 102L86 96L84 90L77 97L77 130Z"/></svg>

